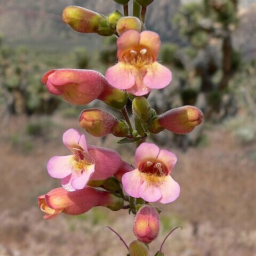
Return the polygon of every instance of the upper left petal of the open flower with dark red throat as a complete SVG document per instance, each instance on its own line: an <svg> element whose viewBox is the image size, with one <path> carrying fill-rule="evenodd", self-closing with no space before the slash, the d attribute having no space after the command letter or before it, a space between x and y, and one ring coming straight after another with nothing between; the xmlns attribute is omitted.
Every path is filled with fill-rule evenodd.
<svg viewBox="0 0 256 256"><path fill-rule="evenodd" d="M160 149L153 143L141 143L135 152L135 165L139 167L143 160L155 159L159 154Z"/></svg>

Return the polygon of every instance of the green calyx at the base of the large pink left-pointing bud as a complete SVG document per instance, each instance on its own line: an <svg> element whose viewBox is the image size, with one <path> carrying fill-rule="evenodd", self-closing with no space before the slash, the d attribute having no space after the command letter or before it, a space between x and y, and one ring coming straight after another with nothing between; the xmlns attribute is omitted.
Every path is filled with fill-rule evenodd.
<svg viewBox="0 0 256 256"><path fill-rule="evenodd" d="M110 108L121 110L127 103L127 95L122 90L116 89L106 84L103 92L98 97L99 100L105 102Z"/></svg>

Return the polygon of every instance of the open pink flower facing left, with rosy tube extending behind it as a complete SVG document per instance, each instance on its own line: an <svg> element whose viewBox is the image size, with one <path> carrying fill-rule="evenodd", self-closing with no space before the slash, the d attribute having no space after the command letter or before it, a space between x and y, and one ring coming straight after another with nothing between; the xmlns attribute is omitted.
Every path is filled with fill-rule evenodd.
<svg viewBox="0 0 256 256"><path fill-rule="evenodd" d="M122 164L116 151L87 146L85 135L75 129L63 134L63 143L73 154L52 157L47 171L51 177L62 179L62 187L68 191L83 189L90 179L107 179Z"/></svg>

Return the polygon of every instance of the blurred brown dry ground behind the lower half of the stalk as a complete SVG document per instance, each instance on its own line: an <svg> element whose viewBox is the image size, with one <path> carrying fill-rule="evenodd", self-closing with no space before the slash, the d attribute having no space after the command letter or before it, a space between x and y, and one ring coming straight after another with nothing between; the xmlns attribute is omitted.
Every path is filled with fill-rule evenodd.
<svg viewBox="0 0 256 256"><path fill-rule="evenodd" d="M51 119L54 129L41 137L25 135L27 118L12 117L1 127L0 141L0 256L104 256L125 255L119 239L103 226L111 226L133 241L133 216L98 207L82 215L60 214L44 220L36 197L59 181L47 175L45 165L54 155L67 154L63 131L77 128L75 119ZM256 255L256 143L242 146L221 127L207 131L209 145L190 148L178 155L173 177L181 195L169 205L158 205L162 216L160 236L150 245L156 251L167 231L182 225L164 246L166 256L254 256ZM100 140L89 138L100 145ZM104 146L132 159L129 146L117 146L111 135ZM254 156L254 157L251 157Z"/></svg>

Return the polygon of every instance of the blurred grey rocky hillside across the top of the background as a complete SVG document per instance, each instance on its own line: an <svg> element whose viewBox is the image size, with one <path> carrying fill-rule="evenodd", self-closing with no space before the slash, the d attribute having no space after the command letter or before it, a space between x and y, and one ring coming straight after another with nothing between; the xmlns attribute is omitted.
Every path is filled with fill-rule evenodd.
<svg viewBox="0 0 256 256"><path fill-rule="evenodd" d="M132 1L131 1L132 2ZM147 28L161 34L163 41L180 42L179 33L173 28L172 18L180 4L191 0L156 0L148 7ZM253 4L255 3L255 4ZM1 0L0 35L10 43L30 43L36 47L49 45L51 49L61 45L99 45L98 36L75 33L61 20L61 12L68 5L108 14L122 6L113 0ZM256 0L241 0L241 22L234 41L243 55L256 57ZM250 6L250 7L249 7Z"/></svg>

